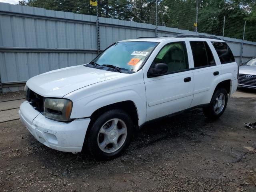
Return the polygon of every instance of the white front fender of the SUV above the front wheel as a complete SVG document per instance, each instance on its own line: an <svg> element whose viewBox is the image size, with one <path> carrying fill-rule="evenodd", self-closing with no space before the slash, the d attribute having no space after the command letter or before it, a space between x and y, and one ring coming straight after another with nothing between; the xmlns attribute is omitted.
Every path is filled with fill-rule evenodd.
<svg viewBox="0 0 256 192"><path fill-rule="evenodd" d="M142 70L140 70L142 72ZM138 113L138 124L146 121L146 92L142 73L136 72L119 81L107 80L87 86L64 96L73 101L70 118L89 118L93 112L110 104L132 101Z"/></svg>

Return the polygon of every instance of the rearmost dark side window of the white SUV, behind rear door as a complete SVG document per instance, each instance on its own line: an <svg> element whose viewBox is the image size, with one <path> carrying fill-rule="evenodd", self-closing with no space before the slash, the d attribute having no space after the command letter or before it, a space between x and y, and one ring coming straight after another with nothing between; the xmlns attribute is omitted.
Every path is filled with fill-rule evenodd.
<svg viewBox="0 0 256 192"><path fill-rule="evenodd" d="M212 45L220 58L221 64L235 62L234 55L232 54L228 44L225 42L212 42Z"/></svg>

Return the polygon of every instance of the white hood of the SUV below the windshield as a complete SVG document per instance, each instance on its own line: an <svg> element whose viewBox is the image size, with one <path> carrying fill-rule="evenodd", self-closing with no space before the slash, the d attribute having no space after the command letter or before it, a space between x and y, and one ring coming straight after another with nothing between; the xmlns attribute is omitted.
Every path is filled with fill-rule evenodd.
<svg viewBox="0 0 256 192"><path fill-rule="evenodd" d="M83 65L53 70L30 78L26 85L44 97L64 95L98 82L128 74L89 68Z"/></svg>

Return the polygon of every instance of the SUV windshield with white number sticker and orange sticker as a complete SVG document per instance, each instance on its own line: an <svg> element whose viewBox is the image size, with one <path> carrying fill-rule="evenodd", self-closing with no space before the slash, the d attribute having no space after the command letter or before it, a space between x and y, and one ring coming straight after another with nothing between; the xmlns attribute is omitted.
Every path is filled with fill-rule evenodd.
<svg viewBox="0 0 256 192"><path fill-rule="evenodd" d="M119 42L106 49L92 62L99 65L114 65L123 70L136 72L156 44L156 42Z"/></svg>

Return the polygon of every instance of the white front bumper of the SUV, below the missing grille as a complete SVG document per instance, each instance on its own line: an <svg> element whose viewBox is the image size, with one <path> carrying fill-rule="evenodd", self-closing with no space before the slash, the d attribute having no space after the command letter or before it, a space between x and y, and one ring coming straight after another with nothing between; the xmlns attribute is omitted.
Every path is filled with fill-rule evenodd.
<svg viewBox="0 0 256 192"><path fill-rule="evenodd" d="M20 119L39 142L64 152L81 152L90 118L69 123L50 120L27 101L20 105Z"/></svg>

